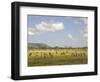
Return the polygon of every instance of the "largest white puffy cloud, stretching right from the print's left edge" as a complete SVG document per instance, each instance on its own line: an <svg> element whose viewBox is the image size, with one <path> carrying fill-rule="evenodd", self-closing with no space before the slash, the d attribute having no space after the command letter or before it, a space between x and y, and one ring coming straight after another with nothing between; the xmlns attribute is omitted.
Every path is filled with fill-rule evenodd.
<svg viewBox="0 0 100 82"><path fill-rule="evenodd" d="M61 31L64 29L64 24L62 22L45 22L41 21L39 24L36 24L35 27L28 28L29 35L35 35L45 32L55 32Z"/></svg>

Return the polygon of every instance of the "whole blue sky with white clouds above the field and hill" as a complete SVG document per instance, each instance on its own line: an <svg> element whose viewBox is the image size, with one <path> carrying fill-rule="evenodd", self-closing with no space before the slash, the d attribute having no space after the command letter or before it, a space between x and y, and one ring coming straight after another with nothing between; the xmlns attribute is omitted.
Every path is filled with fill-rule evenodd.
<svg viewBox="0 0 100 82"><path fill-rule="evenodd" d="M87 17L28 15L28 43L86 47Z"/></svg>

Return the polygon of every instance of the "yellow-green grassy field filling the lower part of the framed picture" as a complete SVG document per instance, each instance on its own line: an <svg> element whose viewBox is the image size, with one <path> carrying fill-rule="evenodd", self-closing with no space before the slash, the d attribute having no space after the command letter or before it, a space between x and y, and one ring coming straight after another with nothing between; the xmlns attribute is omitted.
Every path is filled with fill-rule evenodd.
<svg viewBox="0 0 100 82"><path fill-rule="evenodd" d="M28 49L28 66L87 64L87 48Z"/></svg>

